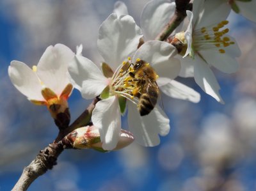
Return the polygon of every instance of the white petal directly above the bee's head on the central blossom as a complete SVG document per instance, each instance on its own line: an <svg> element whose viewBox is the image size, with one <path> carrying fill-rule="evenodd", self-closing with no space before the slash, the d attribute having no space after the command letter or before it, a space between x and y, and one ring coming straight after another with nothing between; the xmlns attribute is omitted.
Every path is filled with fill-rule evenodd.
<svg viewBox="0 0 256 191"><path fill-rule="evenodd" d="M150 63L159 77L174 79L180 72L180 61L173 58L176 54L177 50L170 43L151 40L141 45L132 62L135 63L140 58Z"/></svg>

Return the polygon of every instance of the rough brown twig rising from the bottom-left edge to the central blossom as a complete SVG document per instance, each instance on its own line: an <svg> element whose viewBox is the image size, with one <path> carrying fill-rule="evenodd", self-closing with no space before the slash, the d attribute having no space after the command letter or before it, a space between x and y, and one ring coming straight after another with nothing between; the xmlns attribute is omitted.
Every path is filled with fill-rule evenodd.
<svg viewBox="0 0 256 191"><path fill-rule="evenodd" d="M57 159L63 151L63 144L59 141L76 128L90 123L92 111L97 102L99 102L99 98L94 98L88 108L70 126L60 130L54 142L38 153L35 160L24 168L19 180L12 189L13 191L27 190L29 185L31 185L36 178L44 174L48 169L52 169L52 167L57 164Z"/></svg>

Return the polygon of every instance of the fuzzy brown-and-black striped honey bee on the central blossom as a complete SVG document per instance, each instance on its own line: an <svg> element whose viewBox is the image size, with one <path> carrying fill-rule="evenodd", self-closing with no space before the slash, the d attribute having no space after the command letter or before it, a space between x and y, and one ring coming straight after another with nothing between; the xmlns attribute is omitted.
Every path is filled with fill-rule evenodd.
<svg viewBox="0 0 256 191"><path fill-rule="evenodd" d="M132 91L139 98L138 109L141 116L149 114L157 103L159 88L156 83L157 74L145 61L137 59L133 66L134 72L129 72L132 81L136 82Z"/></svg>

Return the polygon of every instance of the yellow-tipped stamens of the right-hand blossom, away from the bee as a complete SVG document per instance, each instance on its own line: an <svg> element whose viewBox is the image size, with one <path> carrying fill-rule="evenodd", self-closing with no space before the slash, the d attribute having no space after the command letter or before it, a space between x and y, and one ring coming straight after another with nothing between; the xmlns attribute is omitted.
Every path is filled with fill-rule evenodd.
<svg viewBox="0 0 256 191"><path fill-rule="evenodd" d="M193 50L216 49L220 54L225 54L225 48L235 43L225 36L229 31L224 28L227 24L228 20L223 20L217 25L196 29L193 32Z"/></svg>

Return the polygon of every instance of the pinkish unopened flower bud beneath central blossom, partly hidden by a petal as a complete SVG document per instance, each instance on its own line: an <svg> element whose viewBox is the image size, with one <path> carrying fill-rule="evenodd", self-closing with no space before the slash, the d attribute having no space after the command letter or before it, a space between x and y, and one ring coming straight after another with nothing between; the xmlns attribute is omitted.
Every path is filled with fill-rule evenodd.
<svg viewBox="0 0 256 191"><path fill-rule="evenodd" d="M134 137L131 132L121 129L119 141L116 148L118 150L125 148L134 141ZM100 141L99 128L95 126L83 126L77 128L70 134L66 135L61 142L65 148L75 149L96 149L97 151L106 152L102 148L102 142Z"/></svg>

